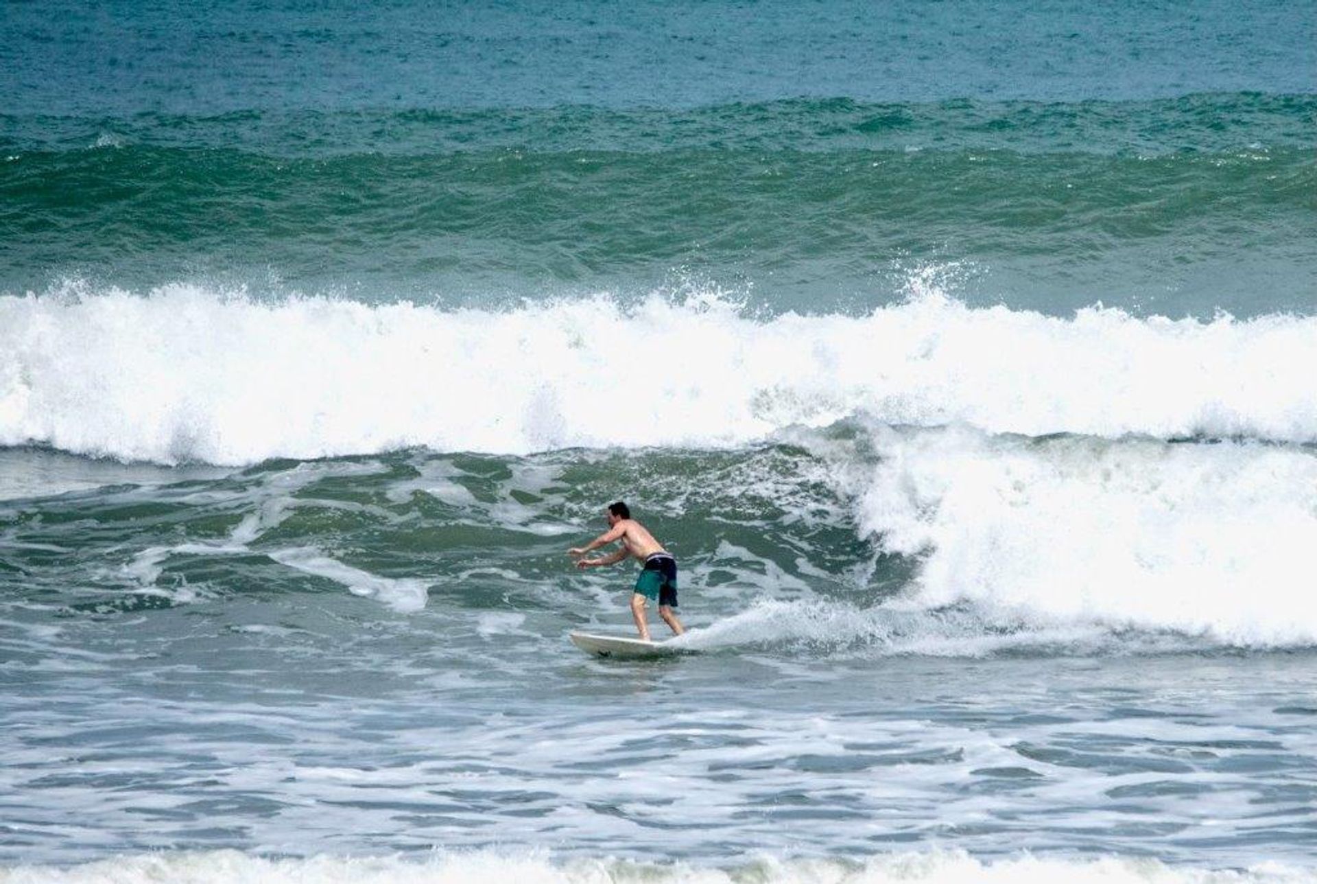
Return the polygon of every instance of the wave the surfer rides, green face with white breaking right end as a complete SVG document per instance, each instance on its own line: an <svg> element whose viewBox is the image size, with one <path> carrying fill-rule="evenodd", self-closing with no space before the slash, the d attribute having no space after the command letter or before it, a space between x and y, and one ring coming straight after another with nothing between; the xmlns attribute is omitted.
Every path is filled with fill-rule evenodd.
<svg viewBox="0 0 1317 884"><path fill-rule="evenodd" d="M78 595L79 605L151 610L250 586L350 593L412 614L445 606L461 588L469 609L503 611L511 599L523 613L548 605L589 622L616 576L572 578L586 592L565 601L561 548L598 501L626 487L681 557L693 611L709 621L689 642L705 651L872 659L1317 647L1306 592L1317 543L1310 449L863 422L785 436L723 452L407 451L270 461L211 478L158 469L142 485L105 464L100 490L25 502L21 511L49 527L29 528L32 552L14 547L0 568L46 569L47 580L16 586L42 603ZM169 512L166 530L144 539L145 511ZM76 568L49 572L45 559L87 549L87 524L119 564L78 594ZM404 527L416 524L448 540L417 547ZM454 556L453 544L465 552ZM487 565L473 569L473 559Z"/></svg>

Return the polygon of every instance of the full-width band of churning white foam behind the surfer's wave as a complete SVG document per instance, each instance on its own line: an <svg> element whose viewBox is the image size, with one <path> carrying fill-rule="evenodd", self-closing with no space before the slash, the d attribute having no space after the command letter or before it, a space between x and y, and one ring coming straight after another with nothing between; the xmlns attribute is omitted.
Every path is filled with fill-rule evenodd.
<svg viewBox="0 0 1317 884"><path fill-rule="evenodd" d="M0 296L0 445L250 464L735 445L860 414L1317 440L1317 318L1058 319L936 291L868 316L753 319L711 295L485 311L84 289Z"/></svg>

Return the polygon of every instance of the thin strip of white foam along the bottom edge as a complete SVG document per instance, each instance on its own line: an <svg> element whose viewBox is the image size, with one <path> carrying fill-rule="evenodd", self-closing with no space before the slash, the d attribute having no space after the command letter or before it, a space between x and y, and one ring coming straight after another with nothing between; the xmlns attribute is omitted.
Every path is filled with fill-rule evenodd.
<svg viewBox="0 0 1317 884"><path fill-rule="evenodd" d="M963 851L928 851L849 859L743 858L732 866L691 863L645 863L623 859L552 860L536 851L436 852L424 859L400 856L265 859L233 850L207 852L159 852L120 856L71 868L21 866L0 870L3 884L133 884L136 881L192 881L221 884L607 884L655 881L656 884L731 884L755 880L764 884L1299 884L1313 881L1314 871L1279 863L1251 868L1210 870L1166 866L1155 859L1104 856L1100 859L1052 859L1022 854L980 860Z"/></svg>

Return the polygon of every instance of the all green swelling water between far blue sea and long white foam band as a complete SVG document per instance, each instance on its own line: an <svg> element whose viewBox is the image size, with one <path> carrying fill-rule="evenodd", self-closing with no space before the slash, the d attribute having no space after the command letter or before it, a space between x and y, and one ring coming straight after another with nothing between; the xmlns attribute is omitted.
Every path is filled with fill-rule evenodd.
<svg viewBox="0 0 1317 884"><path fill-rule="evenodd" d="M971 303L1306 312L1314 107L1245 94L97 121L63 149L3 148L0 233L16 292L182 277L479 306L680 275L832 312L900 299L936 260L965 269ZM248 128L250 144L220 146Z"/></svg>

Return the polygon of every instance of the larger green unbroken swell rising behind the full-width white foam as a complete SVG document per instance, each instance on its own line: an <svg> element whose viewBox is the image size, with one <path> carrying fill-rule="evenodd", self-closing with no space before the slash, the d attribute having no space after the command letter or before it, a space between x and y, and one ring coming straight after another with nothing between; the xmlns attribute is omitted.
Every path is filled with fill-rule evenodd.
<svg viewBox="0 0 1317 884"><path fill-rule="evenodd" d="M1180 235L1191 249L1177 256L1183 260L1198 240L1229 249L1287 242L1288 228L1310 232L1317 179L1310 146L1258 142L1151 154L1089 153L1081 144L1039 153L1001 145L826 152L537 145L325 158L133 144L111 134L96 144L117 146L7 152L0 162L5 252L24 254L57 235L79 261L92 249L141 254L194 240L207 246L194 246L196 254L237 248L263 256L294 236L349 250L357 242L379 249L395 238L453 237L570 245L577 261L594 266L614 253L670 261L691 241L740 258L747 244L776 254L784 240L799 238L803 249L813 240L814 249L865 254L900 254L928 240L964 241L971 252L1042 242L1087 256ZM820 217L826 224L817 224ZM47 266L68 260L67 252L42 257Z"/></svg>

